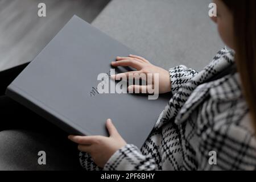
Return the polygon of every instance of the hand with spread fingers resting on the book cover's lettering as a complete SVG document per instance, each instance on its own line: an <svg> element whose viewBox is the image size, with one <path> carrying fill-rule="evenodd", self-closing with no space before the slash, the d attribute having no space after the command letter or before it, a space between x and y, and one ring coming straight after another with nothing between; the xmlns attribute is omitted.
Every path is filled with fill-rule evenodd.
<svg viewBox="0 0 256 182"><path fill-rule="evenodd" d="M171 81L170 75L168 71L163 68L156 67L155 65L151 64L148 60L144 59L140 56L129 55L129 57L117 57L117 61L112 62L113 67L131 67L137 69L137 71L133 72L126 72L126 73L119 73L117 75L112 76L114 80L120 80L123 76L128 78L132 74L135 78L135 75L144 73L148 75L151 73L154 75L155 73L159 73L159 93L167 93L171 92ZM154 76L153 76L154 77ZM138 89L141 93L143 89L148 90L148 86L154 87L154 80L152 82L147 82L147 85L130 85L128 90L135 90Z"/></svg>

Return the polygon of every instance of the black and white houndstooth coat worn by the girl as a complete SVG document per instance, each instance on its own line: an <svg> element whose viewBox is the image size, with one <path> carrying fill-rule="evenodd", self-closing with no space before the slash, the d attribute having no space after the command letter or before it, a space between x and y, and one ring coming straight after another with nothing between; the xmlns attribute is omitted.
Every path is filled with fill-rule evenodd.
<svg viewBox="0 0 256 182"><path fill-rule="evenodd" d="M172 98L146 143L141 150L127 144L104 170L256 169L256 137L240 76L235 71L216 78L234 65L234 53L222 49L201 72L170 69ZM209 162L212 151L217 164ZM80 162L100 170L84 152Z"/></svg>

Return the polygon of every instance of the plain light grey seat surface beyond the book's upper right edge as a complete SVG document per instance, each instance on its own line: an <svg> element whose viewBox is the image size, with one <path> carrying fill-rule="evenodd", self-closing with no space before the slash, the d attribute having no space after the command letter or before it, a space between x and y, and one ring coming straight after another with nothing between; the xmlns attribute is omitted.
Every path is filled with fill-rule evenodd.
<svg viewBox="0 0 256 182"><path fill-rule="evenodd" d="M112 0L93 26L168 69L200 70L224 45L208 16L210 0Z"/></svg>

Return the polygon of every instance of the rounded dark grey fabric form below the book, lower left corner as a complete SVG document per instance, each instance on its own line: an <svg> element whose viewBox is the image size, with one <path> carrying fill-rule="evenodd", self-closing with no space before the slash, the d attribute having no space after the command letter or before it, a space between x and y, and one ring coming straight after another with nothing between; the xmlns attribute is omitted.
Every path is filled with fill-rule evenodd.
<svg viewBox="0 0 256 182"><path fill-rule="evenodd" d="M57 142L56 142L57 141ZM0 132L0 170L80 170L78 150L56 136L32 131ZM46 152L46 165L38 164L38 152Z"/></svg>

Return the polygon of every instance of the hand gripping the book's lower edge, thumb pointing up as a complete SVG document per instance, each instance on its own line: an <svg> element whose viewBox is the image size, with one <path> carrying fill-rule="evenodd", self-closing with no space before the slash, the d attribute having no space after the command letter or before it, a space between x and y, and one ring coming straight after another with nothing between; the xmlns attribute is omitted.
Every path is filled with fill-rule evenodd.
<svg viewBox="0 0 256 182"><path fill-rule="evenodd" d="M102 136L74 136L69 135L68 138L78 143L78 149L82 152L88 152L94 163L103 168L109 158L123 146L126 145L125 140L119 135L115 129L111 119L107 119L106 127L109 131L109 137Z"/></svg>

